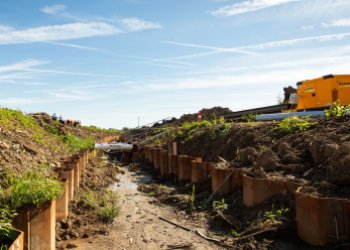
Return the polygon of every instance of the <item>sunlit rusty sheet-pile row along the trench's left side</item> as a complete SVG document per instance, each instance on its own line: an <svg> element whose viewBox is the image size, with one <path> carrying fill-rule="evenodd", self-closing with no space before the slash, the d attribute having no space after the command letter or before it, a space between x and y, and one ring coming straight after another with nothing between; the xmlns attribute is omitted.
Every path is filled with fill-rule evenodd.
<svg viewBox="0 0 350 250"><path fill-rule="evenodd" d="M56 221L68 217L68 205L78 193L82 173L96 151L91 149L75 154L55 169L64 184L64 193L56 200L41 206L22 206L17 209L13 226L21 232L11 250L54 250L56 249Z"/></svg>

